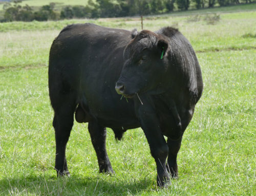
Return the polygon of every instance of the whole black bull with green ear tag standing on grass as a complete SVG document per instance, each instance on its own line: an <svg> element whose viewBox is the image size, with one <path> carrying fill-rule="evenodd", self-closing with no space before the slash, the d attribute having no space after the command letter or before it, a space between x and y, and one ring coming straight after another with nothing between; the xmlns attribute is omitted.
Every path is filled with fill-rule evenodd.
<svg viewBox="0 0 256 196"><path fill-rule="evenodd" d="M105 127L119 140L127 129L141 127L156 161L157 184L164 186L178 177L182 135L202 90L196 54L177 29L67 26L53 41L49 59L57 175L69 175L65 151L75 113L77 122L89 122L100 172L113 173Z"/></svg>

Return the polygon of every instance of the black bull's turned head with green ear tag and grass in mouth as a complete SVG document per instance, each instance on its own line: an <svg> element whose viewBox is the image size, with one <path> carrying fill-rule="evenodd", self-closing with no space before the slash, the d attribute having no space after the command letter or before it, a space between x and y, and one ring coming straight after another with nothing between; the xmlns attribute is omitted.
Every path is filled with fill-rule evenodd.
<svg viewBox="0 0 256 196"><path fill-rule="evenodd" d="M125 97L154 91L163 82L168 66L168 39L143 30L133 32L133 39L123 52L124 66L116 82L116 92Z"/></svg>

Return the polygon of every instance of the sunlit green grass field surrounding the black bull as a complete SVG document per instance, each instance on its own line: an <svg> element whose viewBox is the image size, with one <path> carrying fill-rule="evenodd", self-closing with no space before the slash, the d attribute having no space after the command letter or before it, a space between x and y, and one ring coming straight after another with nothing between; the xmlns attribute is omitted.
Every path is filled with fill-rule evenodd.
<svg viewBox="0 0 256 196"><path fill-rule="evenodd" d="M147 17L144 28L175 26L201 64L204 92L178 154L179 179L156 186L156 166L140 128L106 146L115 175L98 173L87 130L74 123L67 145L70 178L56 178L48 56L67 24L90 21L140 30L139 18L0 24L0 195L255 195L256 7L221 10L208 25L179 15ZM239 7L237 7L239 8ZM229 8L230 9L230 8ZM216 10L218 11L218 10ZM210 17L209 15L207 17Z"/></svg>

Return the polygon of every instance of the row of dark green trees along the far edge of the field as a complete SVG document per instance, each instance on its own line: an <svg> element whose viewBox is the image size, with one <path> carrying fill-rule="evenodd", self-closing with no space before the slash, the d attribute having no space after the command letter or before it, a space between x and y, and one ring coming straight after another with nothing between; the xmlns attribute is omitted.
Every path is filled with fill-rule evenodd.
<svg viewBox="0 0 256 196"><path fill-rule="evenodd" d="M87 6L66 6L55 11L55 4L51 3L34 11L30 6L20 6L22 0L14 1L14 5L4 5L4 19L2 21L44 21L70 18L99 18L123 17L135 15L149 15L188 10L190 3L197 9L228 6L241 3L252 3L255 0L89 0Z"/></svg>

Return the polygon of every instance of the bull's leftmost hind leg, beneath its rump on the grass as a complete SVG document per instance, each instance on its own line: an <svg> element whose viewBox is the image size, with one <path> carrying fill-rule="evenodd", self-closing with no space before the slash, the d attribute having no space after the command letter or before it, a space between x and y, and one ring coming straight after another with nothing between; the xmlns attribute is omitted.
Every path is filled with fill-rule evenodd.
<svg viewBox="0 0 256 196"><path fill-rule="evenodd" d="M67 97L66 97L67 98ZM53 127L55 129L56 157L55 170L57 176L68 175L66 160L66 145L74 122L75 103L65 96L59 99L58 106L54 107ZM65 101L66 100L66 101Z"/></svg>

